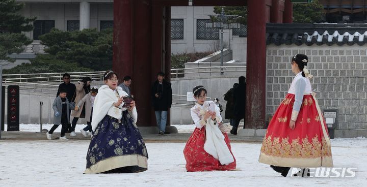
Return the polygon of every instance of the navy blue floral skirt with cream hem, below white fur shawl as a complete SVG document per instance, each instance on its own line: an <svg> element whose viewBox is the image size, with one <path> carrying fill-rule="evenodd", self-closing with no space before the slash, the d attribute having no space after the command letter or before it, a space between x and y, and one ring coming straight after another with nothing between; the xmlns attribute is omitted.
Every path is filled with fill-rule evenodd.
<svg viewBox="0 0 367 187"><path fill-rule="evenodd" d="M133 118L109 115L99 122L89 144L84 173L133 173L147 170L148 153Z"/></svg>

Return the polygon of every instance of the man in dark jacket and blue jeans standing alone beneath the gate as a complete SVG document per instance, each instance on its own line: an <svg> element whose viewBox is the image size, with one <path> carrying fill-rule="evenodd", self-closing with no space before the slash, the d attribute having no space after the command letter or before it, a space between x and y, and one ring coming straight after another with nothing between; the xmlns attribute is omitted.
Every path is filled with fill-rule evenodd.
<svg viewBox="0 0 367 187"><path fill-rule="evenodd" d="M159 134L163 135L167 125L167 113L172 105L171 83L167 82L163 72L158 73L157 80L151 88L151 98L155 111L157 126L160 129Z"/></svg>

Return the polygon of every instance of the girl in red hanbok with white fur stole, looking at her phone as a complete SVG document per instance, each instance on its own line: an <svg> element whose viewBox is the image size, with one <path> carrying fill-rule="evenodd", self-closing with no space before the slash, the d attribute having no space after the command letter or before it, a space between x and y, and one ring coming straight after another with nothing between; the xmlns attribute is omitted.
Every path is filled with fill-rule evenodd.
<svg viewBox="0 0 367 187"><path fill-rule="evenodd" d="M187 171L234 170L236 162L229 138L222 132L220 109L213 101L205 101L203 86L194 87L193 93L196 103L191 117L196 128L183 149Z"/></svg>

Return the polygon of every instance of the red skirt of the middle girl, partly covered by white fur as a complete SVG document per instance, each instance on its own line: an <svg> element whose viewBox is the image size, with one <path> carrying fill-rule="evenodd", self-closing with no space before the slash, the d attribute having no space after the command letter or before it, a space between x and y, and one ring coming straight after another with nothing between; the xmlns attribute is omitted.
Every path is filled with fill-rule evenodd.
<svg viewBox="0 0 367 187"><path fill-rule="evenodd" d="M232 153L230 147L230 141L228 135L223 133L224 141L226 142L229 151ZM193 134L190 136L186 143L185 149L183 149L183 155L186 159L187 171L213 171L213 170L234 170L236 168L236 161L233 156L234 162L229 165L221 165L220 162L212 155L208 154L204 150L205 143L205 128L195 128Z"/></svg>

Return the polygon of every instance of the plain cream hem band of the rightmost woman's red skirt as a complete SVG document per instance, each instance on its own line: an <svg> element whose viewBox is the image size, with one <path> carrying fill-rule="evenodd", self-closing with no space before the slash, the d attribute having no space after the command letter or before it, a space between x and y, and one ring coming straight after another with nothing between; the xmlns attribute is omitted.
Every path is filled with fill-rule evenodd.
<svg viewBox="0 0 367 187"><path fill-rule="evenodd" d="M318 168L318 167L333 167L331 157L320 158L282 158L260 153L260 163L273 166L291 167L291 168Z"/></svg>

